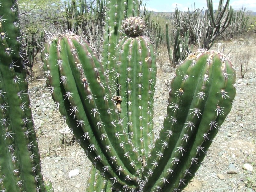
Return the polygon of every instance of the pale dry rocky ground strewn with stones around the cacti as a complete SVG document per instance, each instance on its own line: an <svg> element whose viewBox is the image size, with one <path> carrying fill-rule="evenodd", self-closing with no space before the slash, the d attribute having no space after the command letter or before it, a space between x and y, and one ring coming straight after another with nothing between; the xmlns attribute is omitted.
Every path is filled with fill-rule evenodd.
<svg viewBox="0 0 256 192"><path fill-rule="evenodd" d="M233 108L221 126L204 164L187 191L254 192L256 188L256 39L221 42L219 49L231 57L237 73L236 98ZM217 48L217 47L215 47ZM161 56L160 56L161 57ZM165 56L162 56L165 57ZM165 57L167 58L167 57ZM240 64L250 69L241 78ZM244 70L243 69L243 70ZM154 122L156 130L164 120L168 91L165 84L172 79L172 70L159 59L156 83ZM56 192L83 192L91 163L75 142L64 145L59 139L66 124L55 110L54 102L44 85L35 81L29 87L31 107L36 125L44 176Z"/></svg>

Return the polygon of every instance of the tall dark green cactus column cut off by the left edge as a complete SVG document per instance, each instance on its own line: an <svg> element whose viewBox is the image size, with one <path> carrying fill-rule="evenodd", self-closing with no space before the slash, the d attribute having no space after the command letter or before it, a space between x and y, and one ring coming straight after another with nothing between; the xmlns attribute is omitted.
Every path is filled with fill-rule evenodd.
<svg viewBox="0 0 256 192"><path fill-rule="evenodd" d="M43 192L15 0L0 1L0 191Z"/></svg>

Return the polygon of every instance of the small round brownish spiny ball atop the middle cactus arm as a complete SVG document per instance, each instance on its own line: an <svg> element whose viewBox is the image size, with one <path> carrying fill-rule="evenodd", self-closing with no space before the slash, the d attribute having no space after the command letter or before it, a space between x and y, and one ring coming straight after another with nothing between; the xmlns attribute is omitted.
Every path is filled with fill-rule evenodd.
<svg viewBox="0 0 256 192"><path fill-rule="evenodd" d="M124 20L123 29L128 36L140 36L145 29L145 22L140 17L129 17Z"/></svg>

